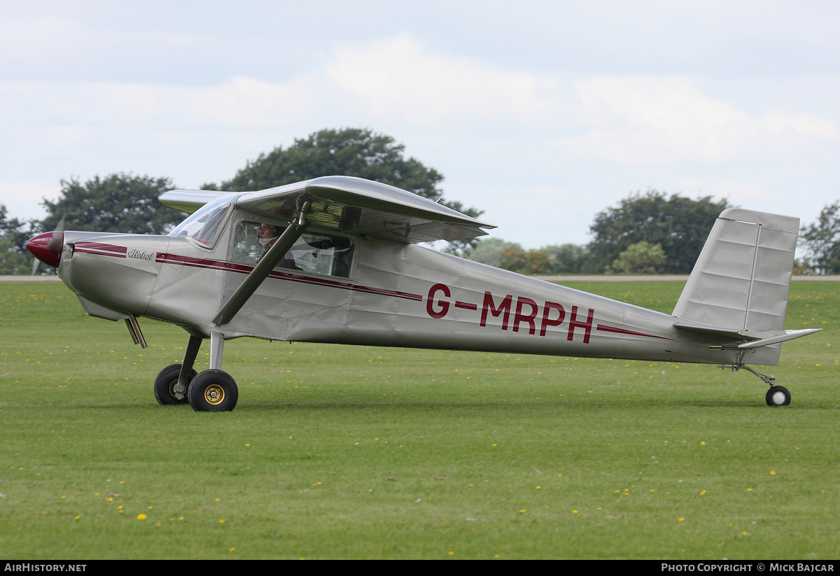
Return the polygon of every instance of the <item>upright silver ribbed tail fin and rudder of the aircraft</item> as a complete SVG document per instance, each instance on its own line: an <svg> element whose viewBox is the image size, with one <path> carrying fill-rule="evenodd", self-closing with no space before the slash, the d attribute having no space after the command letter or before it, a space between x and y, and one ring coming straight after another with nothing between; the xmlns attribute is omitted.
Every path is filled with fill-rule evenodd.
<svg viewBox="0 0 840 576"><path fill-rule="evenodd" d="M798 233L799 218L722 212L674 309L678 322L753 338L784 334ZM761 350L767 358L753 364L778 363L780 345Z"/></svg>

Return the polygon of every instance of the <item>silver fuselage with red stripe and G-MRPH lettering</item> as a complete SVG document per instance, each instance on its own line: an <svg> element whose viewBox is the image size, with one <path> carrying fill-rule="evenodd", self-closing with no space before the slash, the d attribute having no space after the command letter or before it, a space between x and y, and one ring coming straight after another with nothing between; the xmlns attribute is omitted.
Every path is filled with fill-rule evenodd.
<svg viewBox="0 0 840 576"><path fill-rule="evenodd" d="M416 244L353 238L349 277L276 269L227 324L213 317L254 266L186 238L65 233L62 280L88 313L174 322L207 338L354 343L727 363L675 318ZM732 358L730 358L732 356Z"/></svg>

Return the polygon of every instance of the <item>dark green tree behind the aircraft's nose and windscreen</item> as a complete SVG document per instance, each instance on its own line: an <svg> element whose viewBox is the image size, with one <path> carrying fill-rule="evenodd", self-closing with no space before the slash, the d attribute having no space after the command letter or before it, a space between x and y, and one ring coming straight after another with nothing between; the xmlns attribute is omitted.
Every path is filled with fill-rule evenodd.
<svg viewBox="0 0 840 576"><path fill-rule="evenodd" d="M181 212L158 202L162 192L174 187L168 178L126 174L95 176L84 186L76 178L62 180L60 198L41 202L48 212L42 227L55 230L66 217L68 230L167 233L184 219Z"/></svg>

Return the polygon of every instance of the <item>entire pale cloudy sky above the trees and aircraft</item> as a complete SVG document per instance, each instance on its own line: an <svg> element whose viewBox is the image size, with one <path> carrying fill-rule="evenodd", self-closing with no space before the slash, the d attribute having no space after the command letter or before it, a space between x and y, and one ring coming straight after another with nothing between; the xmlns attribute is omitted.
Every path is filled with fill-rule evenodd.
<svg viewBox="0 0 840 576"><path fill-rule="evenodd" d="M651 189L810 223L840 200L838 29L833 0L0 0L0 204L362 127L525 248Z"/></svg>

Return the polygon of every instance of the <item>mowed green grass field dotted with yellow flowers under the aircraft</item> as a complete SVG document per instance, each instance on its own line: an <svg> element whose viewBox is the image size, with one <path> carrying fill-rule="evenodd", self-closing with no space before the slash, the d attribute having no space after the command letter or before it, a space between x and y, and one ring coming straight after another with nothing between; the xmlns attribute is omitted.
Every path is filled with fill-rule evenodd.
<svg viewBox="0 0 840 576"><path fill-rule="evenodd" d="M151 388L180 328L0 283L0 557L838 558L838 288L795 282L824 331L756 367L785 408L713 365L239 339L239 406L196 413Z"/></svg>

